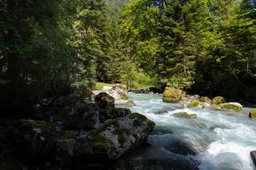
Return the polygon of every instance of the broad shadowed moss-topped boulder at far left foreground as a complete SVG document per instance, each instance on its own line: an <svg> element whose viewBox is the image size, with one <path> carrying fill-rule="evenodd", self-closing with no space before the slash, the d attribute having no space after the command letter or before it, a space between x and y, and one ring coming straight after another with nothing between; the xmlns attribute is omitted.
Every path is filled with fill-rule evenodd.
<svg viewBox="0 0 256 170"><path fill-rule="evenodd" d="M6 132L7 145L23 161L36 159L55 128L41 120L16 120Z"/></svg>

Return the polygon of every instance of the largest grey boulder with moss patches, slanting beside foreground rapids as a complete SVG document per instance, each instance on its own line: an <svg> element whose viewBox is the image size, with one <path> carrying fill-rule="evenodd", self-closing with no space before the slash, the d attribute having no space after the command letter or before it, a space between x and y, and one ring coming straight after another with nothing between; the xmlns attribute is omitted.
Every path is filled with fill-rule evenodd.
<svg viewBox="0 0 256 170"><path fill-rule="evenodd" d="M112 120L90 132L76 152L78 169L85 164L109 163L138 147L155 123L139 113Z"/></svg>

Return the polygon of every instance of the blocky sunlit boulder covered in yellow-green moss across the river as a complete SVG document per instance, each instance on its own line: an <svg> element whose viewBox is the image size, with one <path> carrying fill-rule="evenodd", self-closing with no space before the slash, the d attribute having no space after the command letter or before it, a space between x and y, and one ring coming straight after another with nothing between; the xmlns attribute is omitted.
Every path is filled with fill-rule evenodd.
<svg viewBox="0 0 256 170"><path fill-rule="evenodd" d="M182 90L166 87L164 90L163 101L168 103L178 103L181 100Z"/></svg>

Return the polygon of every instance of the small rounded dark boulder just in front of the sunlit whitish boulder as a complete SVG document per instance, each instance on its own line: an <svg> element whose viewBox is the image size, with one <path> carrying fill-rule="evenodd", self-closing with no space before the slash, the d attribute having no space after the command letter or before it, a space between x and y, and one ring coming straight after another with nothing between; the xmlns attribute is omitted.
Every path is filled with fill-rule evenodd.
<svg viewBox="0 0 256 170"><path fill-rule="evenodd" d="M97 94L95 97L95 103L100 108L105 108L107 106L114 107L114 101L115 99L106 92Z"/></svg>

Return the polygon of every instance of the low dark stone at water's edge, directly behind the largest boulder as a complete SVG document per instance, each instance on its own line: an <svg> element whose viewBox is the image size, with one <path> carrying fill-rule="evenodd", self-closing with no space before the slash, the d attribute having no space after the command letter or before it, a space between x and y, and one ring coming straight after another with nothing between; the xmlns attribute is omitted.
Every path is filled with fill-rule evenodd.
<svg viewBox="0 0 256 170"><path fill-rule="evenodd" d="M105 109L100 110L100 121L104 122L107 119L116 119L124 115L129 115L132 113L129 108L112 108L106 107Z"/></svg>

